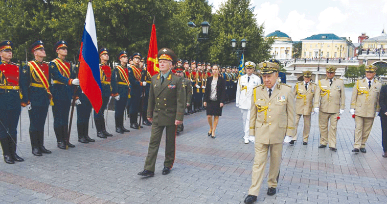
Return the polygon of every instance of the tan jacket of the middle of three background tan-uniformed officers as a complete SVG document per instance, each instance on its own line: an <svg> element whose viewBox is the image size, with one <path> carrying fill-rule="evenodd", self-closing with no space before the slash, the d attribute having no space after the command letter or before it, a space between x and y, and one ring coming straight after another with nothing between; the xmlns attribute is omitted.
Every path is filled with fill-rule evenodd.
<svg viewBox="0 0 387 204"><path fill-rule="evenodd" d="M320 111L324 113L338 113L339 109L345 109L346 95L343 80L332 78L332 86L329 86L329 79L318 81L320 86ZM318 104L318 101L314 101Z"/></svg>

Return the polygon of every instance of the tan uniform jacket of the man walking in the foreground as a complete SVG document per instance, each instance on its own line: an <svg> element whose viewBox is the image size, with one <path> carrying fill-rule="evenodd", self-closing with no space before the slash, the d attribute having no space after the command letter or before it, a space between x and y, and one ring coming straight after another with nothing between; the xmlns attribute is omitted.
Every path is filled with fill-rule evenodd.
<svg viewBox="0 0 387 204"><path fill-rule="evenodd" d="M270 98L264 85L253 90L249 135L254 135L258 143L282 143L285 135L294 134L293 91L282 83L275 86Z"/></svg>

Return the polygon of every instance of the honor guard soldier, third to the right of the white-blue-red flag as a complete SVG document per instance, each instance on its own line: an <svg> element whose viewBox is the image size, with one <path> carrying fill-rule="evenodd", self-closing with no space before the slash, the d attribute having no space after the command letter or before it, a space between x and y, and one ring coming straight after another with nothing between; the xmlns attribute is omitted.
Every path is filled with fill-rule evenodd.
<svg viewBox="0 0 387 204"><path fill-rule="evenodd" d="M140 53L134 53L131 58L133 60L133 65L128 68L128 79L131 85L129 109L130 127L132 129L140 129L143 126L137 122L137 116L139 115L139 111L142 110L141 94L147 83L146 81L142 81L143 72L142 69L140 69L142 55Z"/></svg>

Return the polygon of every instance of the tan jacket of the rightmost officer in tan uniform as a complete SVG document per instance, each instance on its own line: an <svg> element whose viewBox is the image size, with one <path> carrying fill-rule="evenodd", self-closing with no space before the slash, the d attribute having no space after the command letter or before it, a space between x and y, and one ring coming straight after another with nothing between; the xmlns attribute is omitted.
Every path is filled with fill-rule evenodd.
<svg viewBox="0 0 387 204"><path fill-rule="evenodd" d="M351 109L355 109L355 115L360 117L373 118L375 112L379 112L379 94L381 83L375 79L371 88L368 87L366 79L357 80L353 86Z"/></svg>

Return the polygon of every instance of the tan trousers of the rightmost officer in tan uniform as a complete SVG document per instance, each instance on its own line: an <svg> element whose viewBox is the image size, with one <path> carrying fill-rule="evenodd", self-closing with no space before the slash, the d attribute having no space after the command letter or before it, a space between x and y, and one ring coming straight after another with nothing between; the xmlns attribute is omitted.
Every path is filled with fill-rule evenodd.
<svg viewBox="0 0 387 204"><path fill-rule="evenodd" d="M355 116L355 142L353 148L365 148L375 118Z"/></svg>

